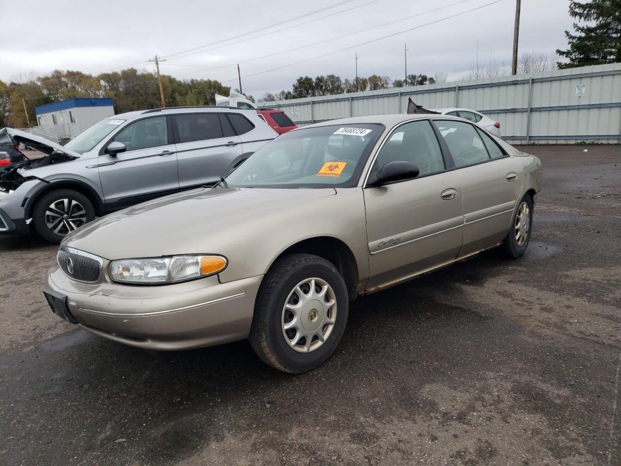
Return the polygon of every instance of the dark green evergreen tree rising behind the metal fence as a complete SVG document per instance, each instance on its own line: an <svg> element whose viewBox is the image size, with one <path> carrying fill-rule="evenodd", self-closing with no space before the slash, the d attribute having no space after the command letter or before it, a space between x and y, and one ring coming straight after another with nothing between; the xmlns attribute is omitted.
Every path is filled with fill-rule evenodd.
<svg viewBox="0 0 621 466"><path fill-rule="evenodd" d="M576 35L565 31L569 48L556 53L569 63L559 68L621 62L621 0L571 1L569 15L587 24L574 23Z"/></svg>

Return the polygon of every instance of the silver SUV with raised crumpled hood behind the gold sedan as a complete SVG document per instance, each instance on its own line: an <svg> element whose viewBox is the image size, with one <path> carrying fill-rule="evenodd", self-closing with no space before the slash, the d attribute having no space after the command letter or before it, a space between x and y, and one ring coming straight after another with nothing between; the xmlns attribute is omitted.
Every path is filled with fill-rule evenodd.
<svg viewBox="0 0 621 466"><path fill-rule="evenodd" d="M171 107L106 118L65 146L7 128L46 157L0 171L0 233L50 242L111 211L214 185L276 133L255 110Z"/></svg>

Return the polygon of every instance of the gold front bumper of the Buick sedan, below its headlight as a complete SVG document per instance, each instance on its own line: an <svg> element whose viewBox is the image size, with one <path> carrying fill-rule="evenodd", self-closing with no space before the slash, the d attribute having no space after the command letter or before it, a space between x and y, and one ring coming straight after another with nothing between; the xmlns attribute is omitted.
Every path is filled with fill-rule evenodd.
<svg viewBox="0 0 621 466"><path fill-rule="evenodd" d="M71 280L57 265L48 272L47 285L67 296L77 325L91 333L144 349L183 350L246 339L261 278L86 284Z"/></svg>

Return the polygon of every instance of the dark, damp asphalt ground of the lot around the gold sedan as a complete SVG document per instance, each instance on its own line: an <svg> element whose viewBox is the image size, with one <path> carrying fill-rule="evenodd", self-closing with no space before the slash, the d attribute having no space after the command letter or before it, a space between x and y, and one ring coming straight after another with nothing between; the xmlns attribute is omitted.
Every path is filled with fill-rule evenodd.
<svg viewBox="0 0 621 466"><path fill-rule="evenodd" d="M57 248L0 237L0 465L620 465L621 148L525 150L544 173L527 254L357 299L302 375L245 341L76 329L41 292Z"/></svg>

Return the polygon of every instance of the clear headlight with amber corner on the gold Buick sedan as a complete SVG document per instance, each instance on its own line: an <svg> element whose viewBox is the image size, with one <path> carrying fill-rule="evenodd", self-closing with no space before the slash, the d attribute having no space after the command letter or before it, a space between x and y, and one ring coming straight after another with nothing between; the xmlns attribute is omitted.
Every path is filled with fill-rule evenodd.
<svg viewBox="0 0 621 466"><path fill-rule="evenodd" d="M173 255L113 260L108 275L117 283L156 285L214 275L226 267L226 258L219 255Z"/></svg>

